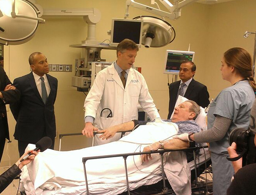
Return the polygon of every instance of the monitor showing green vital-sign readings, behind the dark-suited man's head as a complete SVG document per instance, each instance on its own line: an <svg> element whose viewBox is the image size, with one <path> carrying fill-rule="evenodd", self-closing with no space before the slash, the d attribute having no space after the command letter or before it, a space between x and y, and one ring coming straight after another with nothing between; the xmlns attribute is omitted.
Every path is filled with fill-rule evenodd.
<svg viewBox="0 0 256 195"><path fill-rule="evenodd" d="M179 67L183 60L193 61L194 51L166 50L164 74L179 74Z"/></svg>

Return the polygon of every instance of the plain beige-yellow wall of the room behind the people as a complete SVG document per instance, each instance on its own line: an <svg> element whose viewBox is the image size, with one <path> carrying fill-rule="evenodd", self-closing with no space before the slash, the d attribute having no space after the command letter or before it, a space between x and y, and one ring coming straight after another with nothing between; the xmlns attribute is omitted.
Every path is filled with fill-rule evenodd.
<svg viewBox="0 0 256 195"><path fill-rule="evenodd" d="M125 12L125 0L38 0L44 9L59 8L90 8L95 7L101 12L101 20L97 23L96 39L103 41L110 39L107 30L111 28L111 18L123 18ZM143 4L149 0L140 0ZM136 57L135 66L142 67L160 115L166 119L168 114L168 78L163 74L165 51L190 50L195 51L195 64L197 73L195 79L208 86L210 98L214 98L220 90L229 86L221 78L219 71L222 54L228 48L240 46L253 53L254 37L243 38L246 30L256 30L255 0L236 0L215 5L194 3L182 9L181 18L176 21L167 20L176 31L173 43L162 48L140 48ZM152 15L130 8L130 18L139 15ZM5 70L11 81L14 78L29 73L27 58L33 51L44 53L51 64L73 64L75 58L81 55L81 49L70 48L70 44L79 44L87 37L87 25L82 17L42 17L45 24L40 24L33 39L18 46L5 46ZM102 58L113 61L116 58L115 51L102 50ZM9 60L8 60L9 59ZM81 132L84 126L83 104L85 95L77 92L71 85L72 73L50 72L58 81L58 93L55 103L55 115L57 119L57 133ZM169 76L172 82L172 76ZM18 159L17 141L13 138L15 121L8 111L8 121L12 143L5 146L4 156L0 166L9 165ZM55 149L58 148L58 136L55 139ZM90 139L84 137L64 137L62 149L76 149L91 144Z"/></svg>

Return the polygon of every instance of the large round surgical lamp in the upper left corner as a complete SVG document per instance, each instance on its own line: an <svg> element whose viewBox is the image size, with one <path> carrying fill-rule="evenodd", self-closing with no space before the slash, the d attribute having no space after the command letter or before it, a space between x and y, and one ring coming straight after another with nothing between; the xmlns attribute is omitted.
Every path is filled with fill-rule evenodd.
<svg viewBox="0 0 256 195"><path fill-rule="evenodd" d="M0 0L0 43L18 45L29 41L38 23L45 22L38 18L40 13L29 0Z"/></svg>

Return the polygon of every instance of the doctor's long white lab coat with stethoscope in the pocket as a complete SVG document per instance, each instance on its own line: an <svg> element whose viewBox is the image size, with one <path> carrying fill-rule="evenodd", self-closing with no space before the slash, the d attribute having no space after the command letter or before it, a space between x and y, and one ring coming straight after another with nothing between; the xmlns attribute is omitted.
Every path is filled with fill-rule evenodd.
<svg viewBox="0 0 256 195"><path fill-rule="evenodd" d="M138 103L151 120L160 117L142 74L132 68L129 69L124 89L113 63L97 74L84 102L85 117L94 117L94 126L98 129L106 129L116 124L138 119ZM111 110L112 117L106 118L109 114L107 110L100 116L100 112L104 108ZM94 145L116 141L120 139L120 135L121 133L116 133L113 138L108 140L101 140L98 138L99 135L96 135Z"/></svg>

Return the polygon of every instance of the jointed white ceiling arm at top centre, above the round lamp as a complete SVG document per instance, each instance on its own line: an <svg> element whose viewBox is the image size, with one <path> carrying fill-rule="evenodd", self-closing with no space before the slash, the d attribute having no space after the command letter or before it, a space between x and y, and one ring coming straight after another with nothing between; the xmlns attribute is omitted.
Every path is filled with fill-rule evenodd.
<svg viewBox="0 0 256 195"><path fill-rule="evenodd" d="M174 5L172 5L168 0L159 0L170 12L165 12L160 9L156 9L154 7L150 7L148 5L143 5L140 3L135 2L134 0L126 0L126 12L125 12L125 18L129 16L129 6L136 7L138 9L141 9L143 11L147 11L153 14L156 14L158 16L162 16L165 18L168 18L170 20L176 20L181 16L181 7L184 7L185 5L188 5L192 2L195 2L197 0L183 0L180 2L180 0L174 0Z"/></svg>

